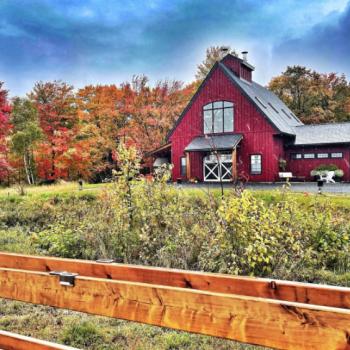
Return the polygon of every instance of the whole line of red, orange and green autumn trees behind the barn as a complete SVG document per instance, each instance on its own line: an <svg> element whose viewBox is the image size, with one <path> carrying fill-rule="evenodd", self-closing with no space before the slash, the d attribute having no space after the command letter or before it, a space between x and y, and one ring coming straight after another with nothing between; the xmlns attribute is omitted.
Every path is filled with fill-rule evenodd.
<svg viewBox="0 0 350 350"><path fill-rule="evenodd" d="M144 155L165 141L227 51L236 54L230 48L209 48L188 85L163 80L150 86L143 75L119 86L78 90L62 81L37 82L26 97L9 99L0 82L0 182L102 181L115 167L118 142L132 144ZM268 88L304 123L350 121L350 84L344 75L292 66Z"/></svg>

